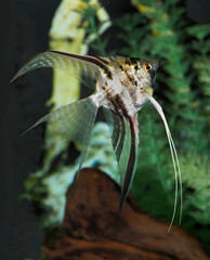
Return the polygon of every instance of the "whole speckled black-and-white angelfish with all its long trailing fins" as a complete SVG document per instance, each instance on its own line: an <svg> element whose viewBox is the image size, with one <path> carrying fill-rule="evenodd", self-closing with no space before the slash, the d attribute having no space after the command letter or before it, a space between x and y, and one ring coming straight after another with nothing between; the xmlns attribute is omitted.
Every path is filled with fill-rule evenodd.
<svg viewBox="0 0 210 260"><path fill-rule="evenodd" d="M92 79L95 82L95 91L92 95L51 112L28 130L43 121L48 121L54 126L60 135L69 141L80 143L82 147L80 170L97 109L100 106L103 106L110 128L113 147L120 172L121 198L119 212L130 191L136 169L139 151L137 113L147 102L150 102L163 120L175 173L175 199L170 230L176 212L179 184L181 192L181 220L182 180L178 154L165 114L161 106L153 98L158 64L158 61L155 60L121 56L94 57L47 51L38 54L24 65L12 81L40 67L56 67L66 70L69 67L76 67L82 77Z"/></svg>

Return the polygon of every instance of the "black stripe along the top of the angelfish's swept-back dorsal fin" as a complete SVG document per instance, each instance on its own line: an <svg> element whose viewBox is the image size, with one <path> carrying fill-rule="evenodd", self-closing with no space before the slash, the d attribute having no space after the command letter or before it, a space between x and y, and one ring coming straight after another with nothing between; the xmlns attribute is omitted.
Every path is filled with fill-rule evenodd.
<svg viewBox="0 0 210 260"><path fill-rule="evenodd" d="M71 54L71 53L66 53L66 52L60 52L60 51L49 51L49 52L52 52L52 53L57 53L57 54L61 54L61 55L65 55L65 56L69 56L69 57L75 57L75 58L78 58L78 60L81 60L81 61L86 61L86 62L90 62L90 63L93 63L95 64L96 66L99 66L105 74L106 76L109 78L109 79L113 79L113 75L111 75L111 72L108 69L108 67L103 64L97 57L93 57L93 56L84 56L84 55L77 55L77 54ZM103 60L104 62L104 60Z"/></svg>

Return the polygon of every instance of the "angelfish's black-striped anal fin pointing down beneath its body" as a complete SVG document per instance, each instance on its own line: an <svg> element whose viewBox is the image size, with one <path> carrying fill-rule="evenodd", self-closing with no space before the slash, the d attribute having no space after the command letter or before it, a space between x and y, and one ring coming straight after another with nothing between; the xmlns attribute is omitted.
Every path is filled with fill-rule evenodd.
<svg viewBox="0 0 210 260"><path fill-rule="evenodd" d="M113 112L105 110L110 128L113 147L116 153L121 182L121 199L118 213L130 191L136 169L139 128L136 117L126 118Z"/></svg>

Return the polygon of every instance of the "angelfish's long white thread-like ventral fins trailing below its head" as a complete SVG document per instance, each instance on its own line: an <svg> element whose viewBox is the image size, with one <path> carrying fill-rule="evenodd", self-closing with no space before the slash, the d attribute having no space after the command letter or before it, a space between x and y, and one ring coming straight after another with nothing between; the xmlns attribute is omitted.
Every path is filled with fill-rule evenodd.
<svg viewBox="0 0 210 260"><path fill-rule="evenodd" d="M156 110L159 113L163 123L165 123L165 129L167 132L167 138L169 140L169 146L170 146L170 151L171 151L171 157L172 157L172 161L173 161L173 168L174 168L174 174L175 174L175 198L174 198L174 206L173 206L173 214L171 218L171 222L170 222L170 226L168 229L168 232L170 232L171 226L174 222L174 218L175 218L175 213L176 213L176 207L178 207L178 190L179 190L179 183L180 183L180 220L179 220L179 224L181 224L181 220L182 220L182 176L181 176L181 169L180 169L180 162L179 162L179 158L178 158L178 153L175 150L175 145L173 143L172 136L171 136L171 132L169 130L169 126L167 123L167 119L165 117L165 114L162 112L161 106L158 104L158 102L150 96L149 98L150 103L154 105L154 107L156 108Z"/></svg>

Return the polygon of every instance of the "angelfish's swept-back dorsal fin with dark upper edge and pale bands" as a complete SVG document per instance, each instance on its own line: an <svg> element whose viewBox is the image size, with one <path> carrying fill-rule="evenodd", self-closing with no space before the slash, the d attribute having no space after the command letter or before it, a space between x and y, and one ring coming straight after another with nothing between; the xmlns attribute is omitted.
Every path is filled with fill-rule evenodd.
<svg viewBox="0 0 210 260"><path fill-rule="evenodd" d="M78 74L81 74L81 76L87 79L96 80L101 73L99 65L102 64L96 57L57 51L47 51L36 55L28 63L26 63L16 73L11 82L14 81L16 78L21 77L22 75L41 67L61 68L66 70L67 73L69 72L69 68L74 67L76 68L73 75L74 77L78 77L78 75L75 75L78 72Z"/></svg>

